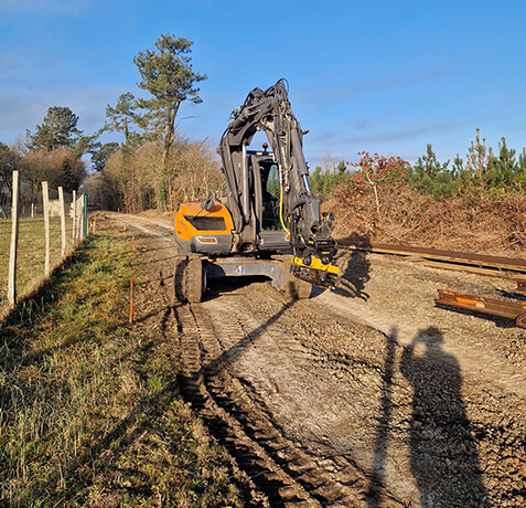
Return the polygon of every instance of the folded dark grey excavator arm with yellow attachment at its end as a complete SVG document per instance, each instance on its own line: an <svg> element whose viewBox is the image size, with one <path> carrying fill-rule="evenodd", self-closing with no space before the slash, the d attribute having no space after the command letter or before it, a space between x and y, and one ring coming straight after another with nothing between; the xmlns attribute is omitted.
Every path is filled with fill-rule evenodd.
<svg viewBox="0 0 526 508"><path fill-rule="evenodd" d="M311 191L302 148L305 133L290 107L285 80L266 91L253 89L233 112L217 147L234 223L234 250L247 242L246 230L250 230L253 247L257 250L258 223L251 205L257 176L255 165L249 168L247 147L260 130L267 136L279 171L279 219L290 236L291 272L313 284L333 286L339 271L331 263L336 253L331 218L322 215L322 199Z"/></svg>

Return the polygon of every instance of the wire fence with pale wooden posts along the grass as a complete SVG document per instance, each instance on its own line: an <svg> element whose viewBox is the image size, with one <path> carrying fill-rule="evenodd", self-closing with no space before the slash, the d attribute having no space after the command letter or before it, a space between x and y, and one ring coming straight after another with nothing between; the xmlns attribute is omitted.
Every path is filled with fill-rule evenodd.
<svg viewBox="0 0 526 508"><path fill-rule="evenodd" d="M84 194L47 188L47 182L28 192L22 184L14 213L15 180L0 180L0 311L15 303L17 294L50 275L87 232ZM14 245L13 224L18 225ZM15 284L12 289L10 281Z"/></svg>

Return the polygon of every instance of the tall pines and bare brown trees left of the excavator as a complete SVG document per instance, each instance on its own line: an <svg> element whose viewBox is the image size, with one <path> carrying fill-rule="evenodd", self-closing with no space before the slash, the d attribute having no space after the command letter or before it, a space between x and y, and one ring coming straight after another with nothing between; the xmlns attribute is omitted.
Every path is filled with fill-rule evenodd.
<svg viewBox="0 0 526 508"><path fill-rule="evenodd" d="M115 105L107 105L105 125L90 136L78 129L71 108L50 107L25 140L0 144L0 184L9 188L11 172L18 169L25 199L39 193L40 182L47 180L69 192L83 184L104 207L132 212L165 209L181 199L196 199L210 186L216 189L217 166L206 141L178 135L181 104L201 103L196 84L206 80L192 68L192 44L161 34L154 50L139 52L133 63L144 96L121 94ZM124 139L103 144L99 138L107 131ZM94 169L89 174L86 156Z"/></svg>

